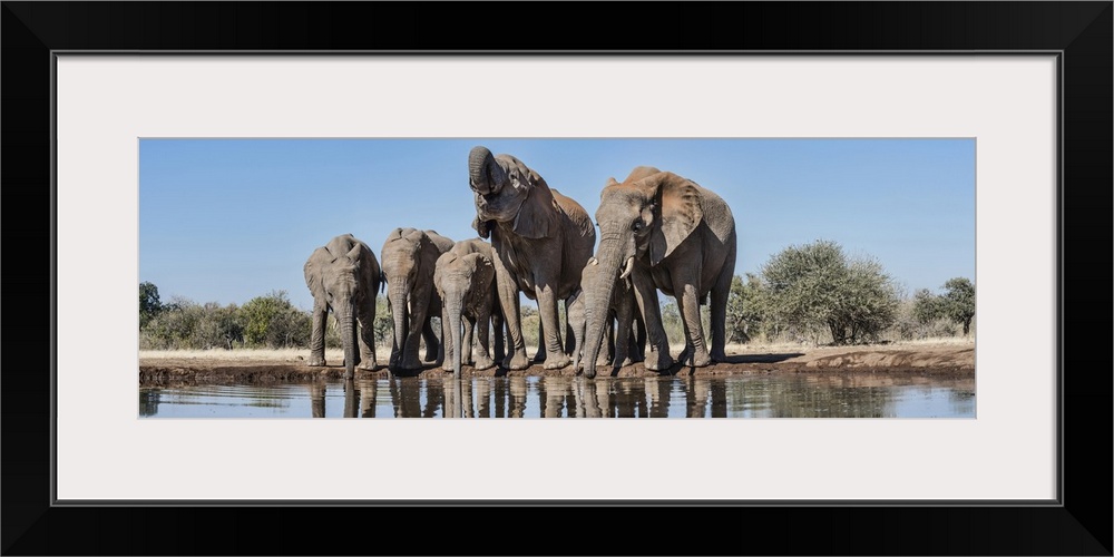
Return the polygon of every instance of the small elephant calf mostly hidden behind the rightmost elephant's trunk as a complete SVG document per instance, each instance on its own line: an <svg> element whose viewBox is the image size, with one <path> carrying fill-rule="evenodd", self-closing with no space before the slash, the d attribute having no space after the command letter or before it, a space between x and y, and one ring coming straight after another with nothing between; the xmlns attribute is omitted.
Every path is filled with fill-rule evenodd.
<svg viewBox="0 0 1114 557"><path fill-rule="evenodd" d="M584 352L584 333L587 325L585 291L596 289L596 283L604 278L599 272L599 261L588 260L580 274L580 290L567 301L568 323L573 328L576 346L573 349L573 369L579 370L580 354ZM615 292L607 307L604 322L604 334L600 340L596 365L613 364L614 369L643 361L646 349L646 325L636 310L634 285L631 277L615 277Z"/></svg>

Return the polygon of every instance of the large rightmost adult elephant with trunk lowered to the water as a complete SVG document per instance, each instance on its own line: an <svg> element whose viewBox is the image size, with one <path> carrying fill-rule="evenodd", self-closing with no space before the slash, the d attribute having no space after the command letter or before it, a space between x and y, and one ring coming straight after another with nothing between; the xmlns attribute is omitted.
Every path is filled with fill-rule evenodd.
<svg viewBox="0 0 1114 557"><path fill-rule="evenodd" d="M657 290L677 301L685 330L678 360L693 367L723 361L727 292L735 268L735 218L719 195L695 182L649 166L636 167L622 183L608 180L596 211L602 274L631 276L646 323L648 370L673 364L662 326ZM585 292L584 374L596 375L596 354L615 281L598 281ZM711 293L711 354L700 320L700 302Z"/></svg>

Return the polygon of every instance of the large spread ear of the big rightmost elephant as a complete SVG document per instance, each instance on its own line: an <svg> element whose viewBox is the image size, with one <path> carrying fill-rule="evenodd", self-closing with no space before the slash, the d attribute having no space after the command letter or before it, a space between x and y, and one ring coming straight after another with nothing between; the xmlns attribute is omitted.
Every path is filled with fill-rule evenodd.
<svg viewBox="0 0 1114 557"><path fill-rule="evenodd" d="M638 182L654 199L657 225L649 236L651 264L657 265L688 237L704 218L695 183L673 173L658 173Z"/></svg>

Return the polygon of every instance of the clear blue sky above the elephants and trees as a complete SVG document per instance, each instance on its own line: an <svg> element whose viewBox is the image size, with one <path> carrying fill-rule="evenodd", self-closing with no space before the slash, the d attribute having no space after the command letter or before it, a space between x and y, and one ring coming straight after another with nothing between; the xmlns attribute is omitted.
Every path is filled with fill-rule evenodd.
<svg viewBox="0 0 1114 557"><path fill-rule="evenodd" d="M537 170L592 215L638 165L731 206L736 274L790 245L839 242L911 295L975 278L974 139L141 139L139 282L164 302L241 305L285 290L312 307L302 265L339 234L377 257L395 227L475 237L468 152Z"/></svg>

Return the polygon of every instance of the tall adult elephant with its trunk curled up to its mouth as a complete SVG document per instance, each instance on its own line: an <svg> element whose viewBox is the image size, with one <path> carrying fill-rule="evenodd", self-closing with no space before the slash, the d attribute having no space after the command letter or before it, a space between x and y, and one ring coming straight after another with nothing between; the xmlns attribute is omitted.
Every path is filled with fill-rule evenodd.
<svg viewBox="0 0 1114 557"><path fill-rule="evenodd" d="M549 187L541 176L510 155L475 147L468 155L468 183L476 198L473 225L495 248L499 303L510 333L504 367L529 367L522 342L519 291L537 300L545 336L545 369L569 364L560 343L557 301L580 283L596 231L578 203Z"/></svg>

